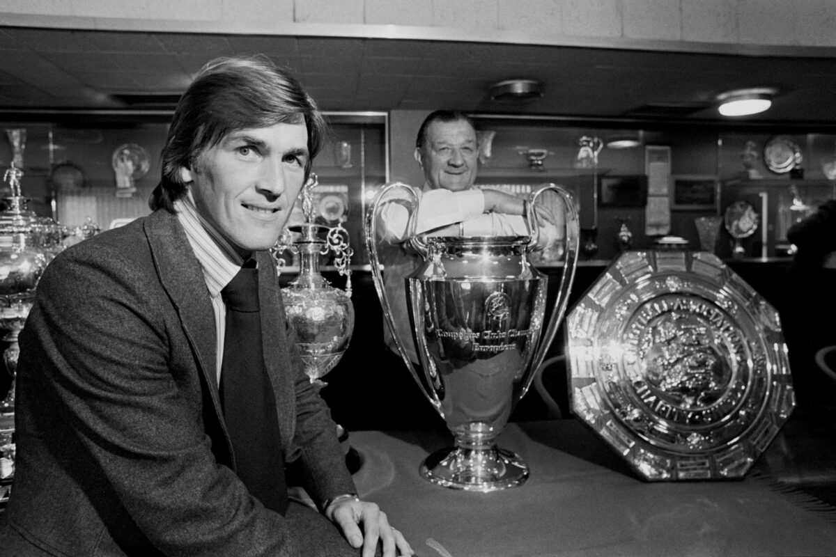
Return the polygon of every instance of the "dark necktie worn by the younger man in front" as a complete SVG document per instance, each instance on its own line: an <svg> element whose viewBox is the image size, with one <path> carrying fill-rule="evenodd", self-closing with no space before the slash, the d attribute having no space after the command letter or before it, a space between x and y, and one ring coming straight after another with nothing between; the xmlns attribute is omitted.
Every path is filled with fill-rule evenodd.
<svg viewBox="0 0 836 557"><path fill-rule="evenodd" d="M284 514L288 488L273 385L264 366L254 260L244 263L221 296L227 306L221 402L236 473L252 496Z"/></svg>

